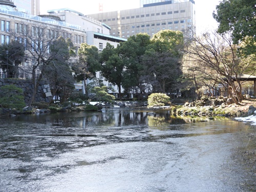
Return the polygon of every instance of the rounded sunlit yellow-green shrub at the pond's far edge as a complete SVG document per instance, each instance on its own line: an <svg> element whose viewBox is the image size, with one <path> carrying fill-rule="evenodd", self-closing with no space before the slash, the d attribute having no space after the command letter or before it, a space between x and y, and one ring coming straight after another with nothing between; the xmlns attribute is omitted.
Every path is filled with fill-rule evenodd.
<svg viewBox="0 0 256 192"><path fill-rule="evenodd" d="M164 106L165 103L170 101L170 97L164 93L152 93L148 96L148 108L152 108L153 106Z"/></svg>

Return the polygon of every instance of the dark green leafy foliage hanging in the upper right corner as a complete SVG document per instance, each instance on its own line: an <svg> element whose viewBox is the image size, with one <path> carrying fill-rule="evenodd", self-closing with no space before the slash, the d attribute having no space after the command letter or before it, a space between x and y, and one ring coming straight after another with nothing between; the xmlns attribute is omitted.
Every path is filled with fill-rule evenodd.
<svg viewBox="0 0 256 192"><path fill-rule="evenodd" d="M224 0L216 7L213 14L219 23L218 32L232 31L234 44L247 38L247 46L243 48L246 55L255 54L256 48L256 12L254 0ZM250 41L248 41L248 37Z"/></svg>

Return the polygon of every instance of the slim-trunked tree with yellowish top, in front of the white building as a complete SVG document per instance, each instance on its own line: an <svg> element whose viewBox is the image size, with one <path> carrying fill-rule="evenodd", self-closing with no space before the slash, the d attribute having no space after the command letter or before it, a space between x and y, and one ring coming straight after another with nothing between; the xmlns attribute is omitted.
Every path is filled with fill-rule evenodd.
<svg viewBox="0 0 256 192"><path fill-rule="evenodd" d="M88 95L86 80L92 79L96 71L100 70L99 50L95 46L86 43L81 44L78 50L79 61L73 65L77 80L84 81L86 95Z"/></svg>

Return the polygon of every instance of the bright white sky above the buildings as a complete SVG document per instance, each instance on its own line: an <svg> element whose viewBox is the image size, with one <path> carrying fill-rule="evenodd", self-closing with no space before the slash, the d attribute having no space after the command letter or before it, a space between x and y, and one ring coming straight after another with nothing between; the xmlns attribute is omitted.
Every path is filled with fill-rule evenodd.
<svg viewBox="0 0 256 192"><path fill-rule="evenodd" d="M196 5L196 27L197 34L204 32L207 29L216 29L218 24L212 17L212 12L216 5L219 5L220 0L194 0ZM72 3L71 3L72 2ZM47 10L70 8L81 12L84 15L98 13L99 4L102 4L103 12L134 9L140 7L139 0L41 0L40 14L47 14Z"/></svg>

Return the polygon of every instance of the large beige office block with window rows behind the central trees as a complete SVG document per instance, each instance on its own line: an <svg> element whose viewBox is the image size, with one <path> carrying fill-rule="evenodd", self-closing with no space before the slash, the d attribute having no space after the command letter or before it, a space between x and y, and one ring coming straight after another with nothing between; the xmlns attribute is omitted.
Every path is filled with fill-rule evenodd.
<svg viewBox="0 0 256 192"><path fill-rule="evenodd" d="M140 6L88 16L110 26L111 35L122 38L138 33L153 36L164 29L188 32L195 25L193 0L140 0Z"/></svg>

